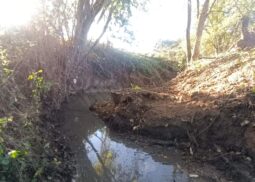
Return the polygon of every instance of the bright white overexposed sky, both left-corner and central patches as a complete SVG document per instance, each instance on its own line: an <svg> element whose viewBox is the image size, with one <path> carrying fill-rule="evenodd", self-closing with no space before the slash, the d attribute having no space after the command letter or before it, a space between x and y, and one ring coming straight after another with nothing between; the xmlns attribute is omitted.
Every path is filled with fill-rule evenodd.
<svg viewBox="0 0 255 182"><path fill-rule="evenodd" d="M11 28L28 23L35 15L38 0L0 0L0 27ZM134 32L132 45L113 40L113 46L132 52L153 50L159 40L184 38L186 0L151 0L147 11L135 10L130 19Z"/></svg>

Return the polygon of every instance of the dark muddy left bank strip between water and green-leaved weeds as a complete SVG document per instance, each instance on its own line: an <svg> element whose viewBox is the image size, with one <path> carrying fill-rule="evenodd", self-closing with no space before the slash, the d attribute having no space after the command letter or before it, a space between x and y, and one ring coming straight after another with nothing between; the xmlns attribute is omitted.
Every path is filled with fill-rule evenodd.
<svg viewBox="0 0 255 182"><path fill-rule="evenodd" d="M61 110L42 110L38 123L39 136L43 144L38 145L42 151L42 181L72 181L75 173L73 152L67 138L61 134ZM35 151L36 152L36 151Z"/></svg>

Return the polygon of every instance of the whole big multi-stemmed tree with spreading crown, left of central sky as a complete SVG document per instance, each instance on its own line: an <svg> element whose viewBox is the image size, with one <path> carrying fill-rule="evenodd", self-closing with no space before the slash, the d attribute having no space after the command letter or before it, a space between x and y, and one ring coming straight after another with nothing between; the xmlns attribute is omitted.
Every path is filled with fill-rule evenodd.
<svg viewBox="0 0 255 182"><path fill-rule="evenodd" d="M41 13L34 22L38 30L65 41L75 49L88 48L88 33L95 23L102 25L95 44L108 27L125 27L132 10L145 7L149 0L41 0ZM100 26L101 27L101 26ZM94 44L94 45L95 45Z"/></svg>

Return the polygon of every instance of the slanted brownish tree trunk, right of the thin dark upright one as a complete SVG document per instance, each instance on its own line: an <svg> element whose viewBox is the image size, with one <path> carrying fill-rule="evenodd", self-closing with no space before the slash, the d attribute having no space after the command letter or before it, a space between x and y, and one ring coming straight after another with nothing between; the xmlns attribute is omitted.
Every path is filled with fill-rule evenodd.
<svg viewBox="0 0 255 182"><path fill-rule="evenodd" d="M209 14L209 4L210 4L210 0L206 0L203 5L199 20L198 20L196 42L195 42L195 47L194 47L193 56L192 56L192 59L194 61L198 60L199 55L200 55L201 39L202 39L202 35L203 35L205 22L208 17L208 14Z"/></svg>

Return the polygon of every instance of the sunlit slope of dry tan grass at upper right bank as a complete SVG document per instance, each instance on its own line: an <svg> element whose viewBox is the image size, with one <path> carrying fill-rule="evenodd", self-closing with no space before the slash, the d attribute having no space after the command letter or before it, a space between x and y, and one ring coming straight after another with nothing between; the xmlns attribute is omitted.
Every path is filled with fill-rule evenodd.
<svg viewBox="0 0 255 182"><path fill-rule="evenodd" d="M247 92L254 86L255 52L224 55L201 60L181 73L172 83L180 92L230 95Z"/></svg>

